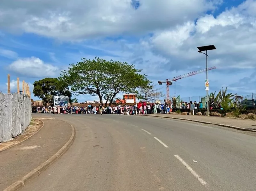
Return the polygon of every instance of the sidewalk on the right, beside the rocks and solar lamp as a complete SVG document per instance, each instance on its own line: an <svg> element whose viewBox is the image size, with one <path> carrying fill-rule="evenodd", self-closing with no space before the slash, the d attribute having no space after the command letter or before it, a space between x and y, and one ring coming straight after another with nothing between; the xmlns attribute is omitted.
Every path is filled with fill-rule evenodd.
<svg viewBox="0 0 256 191"><path fill-rule="evenodd" d="M208 122L216 125L226 125L226 126L233 126L242 129L255 129L256 121L253 120L243 120L243 119L235 119L235 118L228 118L228 117L212 117L212 116L204 116L204 115L173 115L173 114L149 114L146 116L156 116L156 117L165 117L165 118L173 118L173 119L184 119L184 120L191 120L196 122Z"/></svg>

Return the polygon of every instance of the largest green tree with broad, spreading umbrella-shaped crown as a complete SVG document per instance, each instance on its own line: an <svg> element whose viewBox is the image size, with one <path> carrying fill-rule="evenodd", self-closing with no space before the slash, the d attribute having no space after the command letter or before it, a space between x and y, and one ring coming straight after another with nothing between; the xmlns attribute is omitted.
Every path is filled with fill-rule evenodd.
<svg viewBox="0 0 256 191"><path fill-rule="evenodd" d="M118 93L137 93L138 87L150 83L140 72L127 62L82 58L62 71L60 80L70 85L73 92L98 96L100 101L109 101L110 106Z"/></svg>

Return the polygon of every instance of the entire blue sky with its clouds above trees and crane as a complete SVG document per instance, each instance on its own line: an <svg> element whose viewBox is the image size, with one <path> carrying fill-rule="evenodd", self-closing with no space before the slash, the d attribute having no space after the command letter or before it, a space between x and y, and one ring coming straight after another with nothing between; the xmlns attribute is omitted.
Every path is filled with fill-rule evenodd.
<svg viewBox="0 0 256 191"><path fill-rule="evenodd" d="M210 92L256 92L256 0L1 0L0 90L17 91L17 77L30 91L45 77L81 58L95 56L134 64L166 94L165 81L206 67ZM180 79L170 96L206 94L206 74ZM256 93L255 93L256 95ZM32 93L32 98L39 100ZM81 95L79 102L97 97Z"/></svg>

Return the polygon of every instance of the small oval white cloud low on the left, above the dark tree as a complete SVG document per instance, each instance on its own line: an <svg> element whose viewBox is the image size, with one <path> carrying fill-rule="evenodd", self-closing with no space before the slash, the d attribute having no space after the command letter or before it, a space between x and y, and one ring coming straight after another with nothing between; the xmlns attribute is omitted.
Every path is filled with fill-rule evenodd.
<svg viewBox="0 0 256 191"><path fill-rule="evenodd" d="M8 69L27 77L56 77L60 74L58 67L44 63L36 57L18 59L12 62Z"/></svg>

